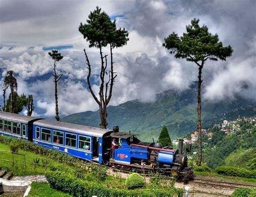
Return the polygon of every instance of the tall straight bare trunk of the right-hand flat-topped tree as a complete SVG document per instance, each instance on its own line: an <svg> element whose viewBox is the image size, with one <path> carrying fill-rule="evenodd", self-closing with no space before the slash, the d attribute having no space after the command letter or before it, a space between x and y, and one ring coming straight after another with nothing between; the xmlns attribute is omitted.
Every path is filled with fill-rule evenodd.
<svg viewBox="0 0 256 197"><path fill-rule="evenodd" d="M202 64L203 65L203 64ZM198 68L198 91L197 91L197 131L198 131L198 165L200 166L202 163L202 128L201 128L201 74L202 74L203 66L199 66Z"/></svg>

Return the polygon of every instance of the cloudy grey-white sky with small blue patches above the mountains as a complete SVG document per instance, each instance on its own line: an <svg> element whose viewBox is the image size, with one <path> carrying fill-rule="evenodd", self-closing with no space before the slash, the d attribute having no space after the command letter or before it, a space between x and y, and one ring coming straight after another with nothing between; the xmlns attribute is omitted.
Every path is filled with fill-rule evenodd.
<svg viewBox="0 0 256 197"><path fill-rule="evenodd" d="M234 53L227 61L207 62L203 71L204 99L216 101L243 96L256 98L256 1L0 1L0 68L2 77L13 69L18 93L33 94L35 115L53 117L55 102L49 50L64 56L58 62L60 115L97 110L86 88L83 49L93 65L93 89L98 91L99 52L89 48L78 27L99 6L129 31L126 46L114 49L118 74L111 105L139 99L154 102L167 89L183 91L197 80L197 67L175 59L162 46L173 31L181 35L194 17L218 33ZM58 8L58 9L56 9ZM15 31L14 31L15 30ZM107 48L104 54L109 53ZM245 86L246 85L246 86ZM0 84L2 87L2 85ZM2 97L2 91L0 91ZM0 104L2 100L0 100Z"/></svg>

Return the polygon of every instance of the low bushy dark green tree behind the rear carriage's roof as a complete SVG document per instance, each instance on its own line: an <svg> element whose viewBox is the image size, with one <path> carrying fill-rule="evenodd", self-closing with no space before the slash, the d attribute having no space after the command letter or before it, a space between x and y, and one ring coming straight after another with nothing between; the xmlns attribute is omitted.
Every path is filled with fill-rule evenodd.
<svg viewBox="0 0 256 197"><path fill-rule="evenodd" d="M6 111L18 114L26 106L27 102L28 102L28 100L24 94L19 96L17 92L14 92L12 94L12 103L13 103L12 109L11 109L11 94L10 94L9 98L6 102Z"/></svg>

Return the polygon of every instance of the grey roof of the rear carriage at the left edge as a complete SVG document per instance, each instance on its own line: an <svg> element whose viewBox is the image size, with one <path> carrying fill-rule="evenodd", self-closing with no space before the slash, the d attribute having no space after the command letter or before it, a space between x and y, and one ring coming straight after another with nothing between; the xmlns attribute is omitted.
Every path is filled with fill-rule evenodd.
<svg viewBox="0 0 256 197"><path fill-rule="evenodd" d="M28 124L28 122L30 121L42 119L42 118L32 117L32 116L23 116L19 114L10 113L10 112L0 111L0 119Z"/></svg>

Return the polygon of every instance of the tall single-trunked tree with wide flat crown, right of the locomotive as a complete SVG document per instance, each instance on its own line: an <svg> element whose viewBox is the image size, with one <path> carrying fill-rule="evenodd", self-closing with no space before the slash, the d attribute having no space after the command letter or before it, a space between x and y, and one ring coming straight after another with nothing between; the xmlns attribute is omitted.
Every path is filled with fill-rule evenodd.
<svg viewBox="0 0 256 197"><path fill-rule="evenodd" d="M163 46L170 50L171 54L175 54L175 58L183 58L187 61L192 61L198 66L198 121L197 130L198 136L198 165L202 161L202 131L201 131L201 74L202 69L207 60L217 61L226 60L227 57L232 55L232 47L228 45L223 47L219 41L217 34L212 35L208 32L207 26L199 26L199 19L194 18L191 20L191 25L186 26L186 33L178 37L178 34L173 32L164 39Z"/></svg>

